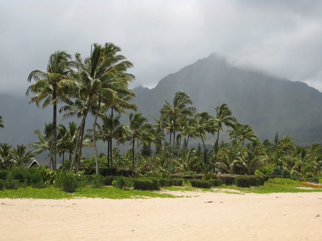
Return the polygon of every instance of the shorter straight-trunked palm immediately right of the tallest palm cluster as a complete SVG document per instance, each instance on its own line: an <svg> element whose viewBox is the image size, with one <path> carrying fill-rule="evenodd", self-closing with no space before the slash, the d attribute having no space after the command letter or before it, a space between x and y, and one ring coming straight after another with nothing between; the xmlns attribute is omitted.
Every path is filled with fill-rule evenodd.
<svg viewBox="0 0 322 241"><path fill-rule="evenodd" d="M149 130L151 124L148 123L147 118L142 116L141 113L129 114L129 125L122 126L122 136L118 138L118 143L124 143L125 141L132 141L132 169L134 170L134 144L135 140L142 138L143 136L150 135ZM137 144L138 145L138 144Z"/></svg>

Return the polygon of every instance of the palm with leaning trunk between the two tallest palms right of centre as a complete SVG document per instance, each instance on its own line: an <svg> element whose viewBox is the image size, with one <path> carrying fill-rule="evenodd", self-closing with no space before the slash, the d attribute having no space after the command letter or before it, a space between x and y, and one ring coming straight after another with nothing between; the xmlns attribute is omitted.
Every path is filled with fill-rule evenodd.
<svg viewBox="0 0 322 241"><path fill-rule="evenodd" d="M206 139L206 133L214 133L216 131L216 127L213 125L213 122L210 121L212 118L208 112L197 113L194 115L194 128L196 132L199 134L202 143L204 144L204 139ZM207 160L207 152L206 145L204 144L204 162L205 165L208 165Z"/></svg>

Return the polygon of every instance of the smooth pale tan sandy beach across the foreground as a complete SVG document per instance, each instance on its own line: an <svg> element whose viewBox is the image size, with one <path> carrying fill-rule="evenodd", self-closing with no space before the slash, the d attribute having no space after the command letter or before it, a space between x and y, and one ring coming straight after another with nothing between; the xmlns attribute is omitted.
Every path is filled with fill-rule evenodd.
<svg viewBox="0 0 322 241"><path fill-rule="evenodd" d="M191 198L0 199L1 240L322 239L319 192L176 194Z"/></svg>

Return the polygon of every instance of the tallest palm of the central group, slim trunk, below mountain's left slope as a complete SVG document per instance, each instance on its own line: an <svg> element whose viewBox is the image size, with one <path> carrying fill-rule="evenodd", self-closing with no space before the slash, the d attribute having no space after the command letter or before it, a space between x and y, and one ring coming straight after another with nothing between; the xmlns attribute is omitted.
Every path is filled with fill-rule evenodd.
<svg viewBox="0 0 322 241"><path fill-rule="evenodd" d="M175 154L175 129L176 121L181 116L192 116L196 111L196 108L193 106L187 106L187 104L192 104L190 96L183 91L178 91L175 93L173 98L173 105L166 101L166 104L163 106L163 111L169 115L170 121L173 122L173 144L172 144L172 158L170 169L173 169L173 157Z"/></svg>

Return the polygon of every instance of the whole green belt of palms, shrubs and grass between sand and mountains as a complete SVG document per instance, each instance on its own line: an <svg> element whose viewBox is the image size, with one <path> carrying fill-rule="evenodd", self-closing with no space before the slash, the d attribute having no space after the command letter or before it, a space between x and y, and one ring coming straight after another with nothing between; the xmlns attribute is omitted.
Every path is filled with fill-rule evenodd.
<svg viewBox="0 0 322 241"><path fill-rule="evenodd" d="M273 143L260 141L226 103L214 106L213 115L198 112L182 91L165 100L159 116L150 115L150 123L137 112L136 94L128 88L135 80L128 73L133 65L121 49L113 43L94 43L90 50L86 58L56 51L46 71L36 69L27 77L33 81L26 91L29 103L53 108L52 122L45 123L43 131L35 130L38 140L27 146L0 144L0 197L173 198L166 192L320 191L299 189L295 180L319 181L321 144L296 146L290 136L279 139L278 133ZM57 111L63 120L77 117L81 124L60 124ZM86 129L89 115L94 121ZM121 123L121 115L128 116L127 124ZM5 128L4 120L0 116L0 128ZM229 141L220 142L223 132ZM210 149L207 135L215 138ZM197 148L189 148L192 139L201 140ZM98 153L97 140L107 152ZM121 153L118 147L128 144L127 152ZM93 156L86 158L82 147L92 147ZM47 153L47 166L27 168L36 155ZM149 191L160 187L163 192Z"/></svg>

